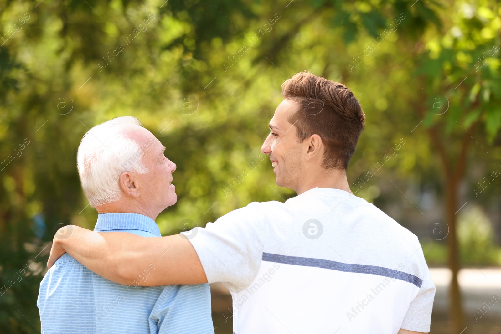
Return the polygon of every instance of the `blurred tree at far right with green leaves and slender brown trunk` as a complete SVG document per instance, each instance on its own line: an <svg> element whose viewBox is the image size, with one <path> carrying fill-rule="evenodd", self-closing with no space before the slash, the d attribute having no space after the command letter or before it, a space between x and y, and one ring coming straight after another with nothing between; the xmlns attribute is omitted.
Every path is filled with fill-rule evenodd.
<svg viewBox="0 0 501 334"><path fill-rule="evenodd" d="M418 50L416 66L407 68L418 76L422 86L412 109L424 120L429 143L442 166L445 221L449 226L448 265L452 270L449 308L453 330L461 331L464 316L457 282L460 249L456 213L465 203L458 203L459 185L465 177L468 152L481 150L487 154L479 142L492 144L501 126L501 20L496 2L453 5L447 27L423 38L421 52L414 48Z"/></svg>

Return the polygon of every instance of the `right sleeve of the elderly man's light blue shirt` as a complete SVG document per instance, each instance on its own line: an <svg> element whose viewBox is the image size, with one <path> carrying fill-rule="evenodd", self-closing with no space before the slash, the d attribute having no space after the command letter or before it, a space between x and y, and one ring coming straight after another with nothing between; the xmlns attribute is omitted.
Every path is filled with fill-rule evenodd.
<svg viewBox="0 0 501 334"><path fill-rule="evenodd" d="M212 333L209 284L164 286L149 324L150 334Z"/></svg>

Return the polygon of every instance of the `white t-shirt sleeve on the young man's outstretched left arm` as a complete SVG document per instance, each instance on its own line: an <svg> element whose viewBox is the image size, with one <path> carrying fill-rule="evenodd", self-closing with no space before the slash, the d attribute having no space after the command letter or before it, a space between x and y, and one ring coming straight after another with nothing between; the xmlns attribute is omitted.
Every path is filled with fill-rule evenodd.
<svg viewBox="0 0 501 334"><path fill-rule="evenodd" d="M235 293L252 283L266 238L262 204L250 203L207 223L205 228L181 232L195 248L209 283L223 282Z"/></svg>

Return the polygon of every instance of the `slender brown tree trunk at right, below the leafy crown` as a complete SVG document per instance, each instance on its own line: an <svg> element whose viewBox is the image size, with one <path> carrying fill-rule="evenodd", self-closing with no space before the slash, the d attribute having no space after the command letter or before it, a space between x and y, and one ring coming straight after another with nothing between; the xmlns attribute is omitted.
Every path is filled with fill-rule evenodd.
<svg viewBox="0 0 501 334"><path fill-rule="evenodd" d="M457 235L456 235L456 203L457 189L459 179L451 174L446 178L445 192L445 217L449 226L449 234L447 239L447 248L449 253L448 264L452 271L452 277L449 286L449 315L451 320L451 333L459 334L464 329L464 316L461 303L461 291L457 282L457 273L459 272L459 259L457 251Z"/></svg>

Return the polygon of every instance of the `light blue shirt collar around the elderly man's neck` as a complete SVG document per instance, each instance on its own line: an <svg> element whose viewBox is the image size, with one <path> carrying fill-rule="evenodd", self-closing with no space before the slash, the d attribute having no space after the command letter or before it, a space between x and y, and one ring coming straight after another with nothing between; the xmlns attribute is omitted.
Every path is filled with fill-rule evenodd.
<svg viewBox="0 0 501 334"><path fill-rule="evenodd" d="M118 229L140 230L161 236L160 229L153 219L139 213L100 213L94 231Z"/></svg>

